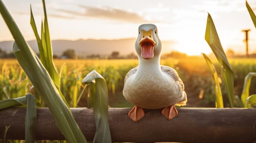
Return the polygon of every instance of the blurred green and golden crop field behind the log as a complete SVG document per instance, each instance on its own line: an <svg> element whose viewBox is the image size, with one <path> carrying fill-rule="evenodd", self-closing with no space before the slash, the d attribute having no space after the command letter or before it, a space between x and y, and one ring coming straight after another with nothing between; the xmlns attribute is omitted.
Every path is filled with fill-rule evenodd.
<svg viewBox="0 0 256 143"><path fill-rule="evenodd" d="M218 61L215 58L212 61L220 73ZM229 62L235 74L234 93L240 97L245 76L256 71L256 59L229 58ZM61 92L70 107L88 106L88 91L82 92L84 85L81 81L94 69L106 79L110 107L133 106L124 99L122 90L125 75L138 65L138 59L55 59L54 63L58 72L61 71ZM161 64L177 70L183 80L188 95L185 107L215 107L211 75L203 57L167 58L162 59ZM229 107L225 86L221 79L219 82L224 105ZM0 100L25 96L28 92L31 83L16 59L0 59L0 86ZM253 78L251 87L255 86L256 81ZM255 92L256 88L250 88L249 95Z"/></svg>

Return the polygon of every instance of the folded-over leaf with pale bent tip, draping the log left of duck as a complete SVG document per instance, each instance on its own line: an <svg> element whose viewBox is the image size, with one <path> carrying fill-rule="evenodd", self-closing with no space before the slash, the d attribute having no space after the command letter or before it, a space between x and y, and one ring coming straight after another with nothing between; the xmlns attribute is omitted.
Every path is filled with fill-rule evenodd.
<svg viewBox="0 0 256 143"><path fill-rule="evenodd" d="M105 79L93 70L82 81L90 84L92 106L96 123L96 134L93 143L111 143L108 124L108 88Z"/></svg>

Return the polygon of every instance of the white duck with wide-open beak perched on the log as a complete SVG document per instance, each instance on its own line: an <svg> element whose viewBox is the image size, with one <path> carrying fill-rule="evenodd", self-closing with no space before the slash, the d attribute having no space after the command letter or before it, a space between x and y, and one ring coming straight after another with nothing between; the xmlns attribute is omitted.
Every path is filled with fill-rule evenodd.
<svg viewBox="0 0 256 143"><path fill-rule="evenodd" d="M157 26L139 26L135 51L139 65L124 78L123 95L134 105L128 117L137 122L145 116L144 109L162 109L161 113L171 120L178 115L175 106L185 106L187 96L177 71L160 65L162 44Z"/></svg>

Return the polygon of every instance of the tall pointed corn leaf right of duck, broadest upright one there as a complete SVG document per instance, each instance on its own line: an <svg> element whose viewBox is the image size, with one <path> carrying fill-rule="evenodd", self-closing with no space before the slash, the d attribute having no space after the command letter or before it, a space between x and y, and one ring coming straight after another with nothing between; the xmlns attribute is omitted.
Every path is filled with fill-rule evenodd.
<svg viewBox="0 0 256 143"><path fill-rule="evenodd" d="M205 40L207 41L214 55L216 56L219 63L221 64L222 78L227 89L230 106L233 108L234 107L234 73L231 66L229 65L225 52L223 51L223 48L220 43L220 39L218 37L218 33L216 31L213 20L209 13L208 13L207 26L205 31Z"/></svg>

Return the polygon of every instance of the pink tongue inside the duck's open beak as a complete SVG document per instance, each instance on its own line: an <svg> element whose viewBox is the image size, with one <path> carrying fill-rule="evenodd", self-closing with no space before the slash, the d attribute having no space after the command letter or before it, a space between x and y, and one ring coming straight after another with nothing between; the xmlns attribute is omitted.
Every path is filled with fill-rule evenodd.
<svg viewBox="0 0 256 143"><path fill-rule="evenodd" d="M150 42L144 42L141 46L141 57L151 59L154 57L154 47Z"/></svg>

